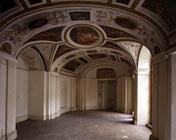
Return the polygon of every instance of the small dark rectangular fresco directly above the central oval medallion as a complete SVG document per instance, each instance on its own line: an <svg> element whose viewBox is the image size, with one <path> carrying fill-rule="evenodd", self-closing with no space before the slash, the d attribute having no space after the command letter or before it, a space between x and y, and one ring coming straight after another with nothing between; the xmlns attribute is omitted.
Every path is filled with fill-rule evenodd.
<svg viewBox="0 0 176 140"><path fill-rule="evenodd" d="M69 12L72 21L90 20L90 12Z"/></svg>

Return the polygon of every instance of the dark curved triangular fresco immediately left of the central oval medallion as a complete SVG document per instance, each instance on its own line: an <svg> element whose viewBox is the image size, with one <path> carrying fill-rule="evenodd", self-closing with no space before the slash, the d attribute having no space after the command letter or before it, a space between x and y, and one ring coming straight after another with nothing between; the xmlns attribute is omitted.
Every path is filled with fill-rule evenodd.
<svg viewBox="0 0 176 140"><path fill-rule="evenodd" d="M39 41L39 40L46 40L46 41L54 41L59 42L61 41L61 32L64 27L57 27L53 29L49 29L47 31L43 31L34 37L32 37L28 42L30 41Z"/></svg>

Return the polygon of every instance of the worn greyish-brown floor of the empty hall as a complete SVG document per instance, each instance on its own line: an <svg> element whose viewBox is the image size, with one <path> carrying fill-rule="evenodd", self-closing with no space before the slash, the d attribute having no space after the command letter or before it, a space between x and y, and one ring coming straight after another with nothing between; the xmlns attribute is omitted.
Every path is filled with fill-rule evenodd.
<svg viewBox="0 0 176 140"><path fill-rule="evenodd" d="M127 123L130 116L114 112L75 111L50 121L17 124L17 140L148 140L146 127Z"/></svg>

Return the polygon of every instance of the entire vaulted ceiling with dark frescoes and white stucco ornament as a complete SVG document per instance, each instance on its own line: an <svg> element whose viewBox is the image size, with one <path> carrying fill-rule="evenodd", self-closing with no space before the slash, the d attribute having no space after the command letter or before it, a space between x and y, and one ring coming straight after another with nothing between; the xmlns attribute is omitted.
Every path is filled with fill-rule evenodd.
<svg viewBox="0 0 176 140"><path fill-rule="evenodd" d="M0 51L37 54L48 71L97 60L136 67L143 45L152 55L176 46L175 31L175 0L0 1Z"/></svg>

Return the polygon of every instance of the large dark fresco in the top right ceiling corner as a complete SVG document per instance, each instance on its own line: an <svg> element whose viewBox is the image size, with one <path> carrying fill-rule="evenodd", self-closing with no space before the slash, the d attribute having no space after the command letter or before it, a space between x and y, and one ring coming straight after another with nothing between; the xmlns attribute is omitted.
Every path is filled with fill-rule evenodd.
<svg viewBox="0 0 176 140"><path fill-rule="evenodd" d="M142 6L158 14L169 30L176 28L176 0L145 0Z"/></svg>

